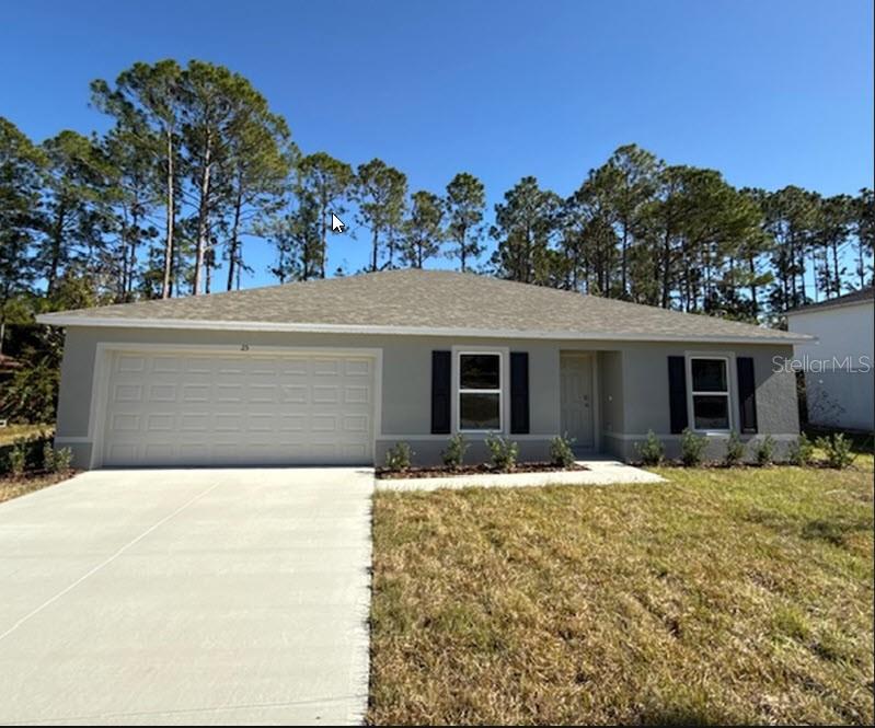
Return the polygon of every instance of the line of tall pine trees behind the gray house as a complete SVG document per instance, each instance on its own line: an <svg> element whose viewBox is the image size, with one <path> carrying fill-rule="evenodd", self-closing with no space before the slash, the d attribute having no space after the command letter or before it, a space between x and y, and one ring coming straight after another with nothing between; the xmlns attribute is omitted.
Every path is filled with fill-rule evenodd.
<svg viewBox="0 0 875 728"><path fill-rule="evenodd" d="M279 282L342 275L330 221L352 211L367 230L368 270L442 258L740 320L873 279L868 188L738 189L718 171L629 145L568 197L521 178L490 222L484 185L468 172L439 192L411 190L380 159L354 167L303 153L267 100L221 66L138 62L93 81L91 104L111 122L105 134L35 143L0 117L0 324L240 288L253 241L274 251Z"/></svg>

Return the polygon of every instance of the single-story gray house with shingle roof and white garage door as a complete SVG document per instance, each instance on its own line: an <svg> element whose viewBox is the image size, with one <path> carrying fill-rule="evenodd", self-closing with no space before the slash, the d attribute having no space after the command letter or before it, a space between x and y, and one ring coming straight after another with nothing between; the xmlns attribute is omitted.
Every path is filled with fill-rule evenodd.
<svg viewBox="0 0 875 728"><path fill-rule="evenodd" d="M485 459L567 434L635 457L688 425L723 450L798 434L805 337L472 274L396 270L39 317L66 327L57 442L81 467L436 462L453 432Z"/></svg>

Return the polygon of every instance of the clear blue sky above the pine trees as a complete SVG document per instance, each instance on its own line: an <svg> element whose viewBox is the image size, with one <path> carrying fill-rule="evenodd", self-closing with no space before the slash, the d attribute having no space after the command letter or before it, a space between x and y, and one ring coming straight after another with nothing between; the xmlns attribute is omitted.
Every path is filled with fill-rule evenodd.
<svg viewBox="0 0 875 728"><path fill-rule="evenodd" d="M105 128L92 79L200 58L246 76L304 152L380 157L412 189L470 171L491 207L527 174L566 195L633 141L738 186L873 184L868 0L31 0L1 23L0 114L36 140Z"/></svg>

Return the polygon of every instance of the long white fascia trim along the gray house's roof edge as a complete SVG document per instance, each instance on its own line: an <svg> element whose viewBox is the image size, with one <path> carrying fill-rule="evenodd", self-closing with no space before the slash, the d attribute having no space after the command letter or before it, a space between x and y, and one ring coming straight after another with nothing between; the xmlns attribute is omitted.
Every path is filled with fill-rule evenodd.
<svg viewBox="0 0 875 728"><path fill-rule="evenodd" d="M270 321L209 321L188 319L117 319L101 316L78 316L65 313L44 313L36 317L37 323L50 326L115 327L115 328L184 328L208 331L263 331L298 332L311 334L385 334L403 336L448 336L453 338L516 338L516 339L557 339L586 342L687 342L691 344L805 344L815 340L807 334L783 336L722 336L719 334L619 334L598 332L569 332L548 330L516 328L451 328L440 326L388 326L364 324L311 324L280 323ZM769 331L763 328L762 331ZM778 333L778 332L776 332Z"/></svg>

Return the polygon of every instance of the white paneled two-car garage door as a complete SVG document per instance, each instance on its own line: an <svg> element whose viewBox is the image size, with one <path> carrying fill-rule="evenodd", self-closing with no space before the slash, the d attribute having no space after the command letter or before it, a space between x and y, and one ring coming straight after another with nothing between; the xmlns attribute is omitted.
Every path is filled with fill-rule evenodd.
<svg viewBox="0 0 875 728"><path fill-rule="evenodd" d="M113 353L102 462L370 463L373 361L303 353Z"/></svg>

